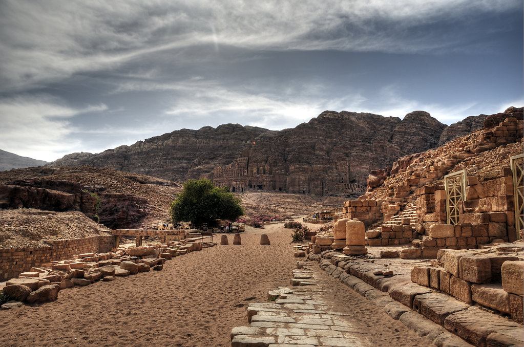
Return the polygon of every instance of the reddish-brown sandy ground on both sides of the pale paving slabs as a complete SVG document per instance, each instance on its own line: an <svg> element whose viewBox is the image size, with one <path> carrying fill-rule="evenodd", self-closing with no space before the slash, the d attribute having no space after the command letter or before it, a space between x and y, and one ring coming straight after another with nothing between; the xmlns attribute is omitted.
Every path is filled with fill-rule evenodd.
<svg viewBox="0 0 524 347"><path fill-rule="evenodd" d="M271 245L259 244L261 233L268 234ZM230 245L179 256L163 271L65 289L52 303L0 311L0 345L230 346L231 329L247 325L245 305L266 301L276 286L289 286L297 261L290 234L281 224L248 228L242 245L233 245L228 234ZM331 282L341 286L333 287L336 293L351 290ZM381 321L387 315L368 319L376 307L351 292L335 295L334 304L356 309L356 318L367 321L371 333L380 331L376 341L419 345L412 339L420 338L398 321Z"/></svg>

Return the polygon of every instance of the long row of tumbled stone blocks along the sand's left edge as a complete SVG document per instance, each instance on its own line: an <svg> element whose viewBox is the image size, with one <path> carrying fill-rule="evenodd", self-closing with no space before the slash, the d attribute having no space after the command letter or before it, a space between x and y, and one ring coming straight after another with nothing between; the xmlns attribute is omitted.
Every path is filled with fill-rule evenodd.
<svg viewBox="0 0 524 347"><path fill-rule="evenodd" d="M68 260L53 261L32 267L18 278L0 283L0 290L11 300L1 309L26 304L41 304L58 298L60 290L86 286L95 281L114 281L117 277L139 272L161 271L166 260L216 245L194 240L137 248L118 247L107 253L77 254Z"/></svg>

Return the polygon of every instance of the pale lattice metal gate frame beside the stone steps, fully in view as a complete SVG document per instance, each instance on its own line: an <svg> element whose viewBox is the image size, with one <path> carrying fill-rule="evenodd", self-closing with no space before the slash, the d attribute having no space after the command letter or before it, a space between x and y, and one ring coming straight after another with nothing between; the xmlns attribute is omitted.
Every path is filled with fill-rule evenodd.
<svg viewBox="0 0 524 347"><path fill-rule="evenodd" d="M459 222L459 207L466 196L466 185L467 172L465 169L444 176L447 224L456 225Z"/></svg>

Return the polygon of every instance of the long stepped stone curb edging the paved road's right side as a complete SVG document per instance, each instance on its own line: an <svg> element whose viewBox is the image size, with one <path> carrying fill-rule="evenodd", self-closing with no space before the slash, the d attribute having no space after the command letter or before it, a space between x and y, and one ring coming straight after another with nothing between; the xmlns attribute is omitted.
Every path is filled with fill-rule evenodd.
<svg viewBox="0 0 524 347"><path fill-rule="evenodd" d="M518 323L412 283L406 275L376 275L374 273L382 267L336 255L336 252L325 251L309 254L308 259L319 262L326 274L338 278L374 305L383 307L391 318L399 319L437 346L524 345L524 330Z"/></svg>

